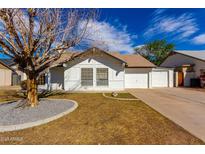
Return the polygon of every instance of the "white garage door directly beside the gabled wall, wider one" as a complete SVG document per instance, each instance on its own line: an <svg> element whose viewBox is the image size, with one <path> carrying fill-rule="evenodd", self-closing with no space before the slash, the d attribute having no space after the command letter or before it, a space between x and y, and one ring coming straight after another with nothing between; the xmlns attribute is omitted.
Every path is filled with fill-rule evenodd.
<svg viewBox="0 0 205 154"><path fill-rule="evenodd" d="M126 73L125 88L148 88L148 73Z"/></svg>

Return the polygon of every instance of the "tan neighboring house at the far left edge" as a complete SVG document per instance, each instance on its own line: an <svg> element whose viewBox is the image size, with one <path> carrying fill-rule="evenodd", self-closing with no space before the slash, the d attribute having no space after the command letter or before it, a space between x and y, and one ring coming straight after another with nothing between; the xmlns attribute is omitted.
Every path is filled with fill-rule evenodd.
<svg viewBox="0 0 205 154"><path fill-rule="evenodd" d="M0 86L11 85L12 69L0 60Z"/></svg>

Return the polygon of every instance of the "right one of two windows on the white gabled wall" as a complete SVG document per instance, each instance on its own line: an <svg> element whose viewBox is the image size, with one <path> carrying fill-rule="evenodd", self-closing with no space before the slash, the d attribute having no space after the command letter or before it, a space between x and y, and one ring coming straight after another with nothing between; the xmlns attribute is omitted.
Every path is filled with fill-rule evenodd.
<svg viewBox="0 0 205 154"><path fill-rule="evenodd" d="M108 86L108 68L96 69L97 86Z"/></svg>

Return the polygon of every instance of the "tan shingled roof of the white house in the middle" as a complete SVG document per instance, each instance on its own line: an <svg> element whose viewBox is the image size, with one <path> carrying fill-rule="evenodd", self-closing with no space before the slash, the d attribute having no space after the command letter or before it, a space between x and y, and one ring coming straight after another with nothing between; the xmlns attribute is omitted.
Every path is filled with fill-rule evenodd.
<svg viewBox="0 0 205 154"><path fill-rule="evenodd" d="M55 64L63 64L65 62L70 61L71 59L78 58L80 56L83 56L86 53L93 52L95 54L96 52L102 52L106 55L109 55L117 60L119 60L122 63L125 63L126 67L156 67L153 63L142 57L138 54L125 54L122 55L119 52L106 52L104 50L101 50L99 48L90 48L84 52L66 52L64 53L59 60L57 60L54 63Z"/></svg>

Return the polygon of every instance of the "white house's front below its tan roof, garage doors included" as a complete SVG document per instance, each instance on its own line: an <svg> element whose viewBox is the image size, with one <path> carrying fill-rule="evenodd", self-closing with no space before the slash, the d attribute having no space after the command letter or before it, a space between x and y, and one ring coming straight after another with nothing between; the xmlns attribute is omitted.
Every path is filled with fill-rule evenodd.
<svg viewBox="0 0 205 154"><path fill-rule="evenodd" d="M47 75L48 84L44 87L65 91L118 91L130 88L152 88L153 85L156 86L154 83L156 80L152 79L153 73L156 71L166 75L159 76L160 80L164 80L164 84L156 87L173 87L172 69L153 68L153 65L146 66L145 64L145 67L141 67L141 63L140 67L129 67L126 64L103 52L87 52L87 54L62 63L61 66L51 68ZM104 75L98 73L99 80L97 82L98 68L106 68L104 69L106 73L104 72ZM81 72L83 73L81 74ZM99 82L102 80L105 82ZM97 83L104 85L97 85Z"/></svg>

